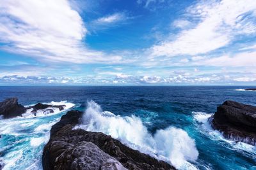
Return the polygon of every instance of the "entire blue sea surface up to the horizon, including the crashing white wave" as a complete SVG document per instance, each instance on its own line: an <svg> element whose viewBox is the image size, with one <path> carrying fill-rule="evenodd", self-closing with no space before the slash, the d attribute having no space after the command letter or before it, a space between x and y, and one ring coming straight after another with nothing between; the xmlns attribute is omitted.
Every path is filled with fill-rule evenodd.
<svg viewBox="0 0 256 170"><path fill-rule="evenodd" d="M256 106L251 87L0 87L0 101L65 104L65 110L0 120L3 169L42 169L51 126L84 111L76 128L101 131L178 169L256 169L256 148L223 139L207 118L226 100Z"/></svg>

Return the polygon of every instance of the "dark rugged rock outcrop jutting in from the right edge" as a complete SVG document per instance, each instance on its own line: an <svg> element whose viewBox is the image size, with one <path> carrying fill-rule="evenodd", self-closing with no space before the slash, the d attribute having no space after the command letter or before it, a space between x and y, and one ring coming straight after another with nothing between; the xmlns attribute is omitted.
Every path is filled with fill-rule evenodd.
<svg viewBox="0 0 256 170"><path fill-rule="evenodd" d="M225 138L256 146L255 106L225 101L209 121Z"/></svg>

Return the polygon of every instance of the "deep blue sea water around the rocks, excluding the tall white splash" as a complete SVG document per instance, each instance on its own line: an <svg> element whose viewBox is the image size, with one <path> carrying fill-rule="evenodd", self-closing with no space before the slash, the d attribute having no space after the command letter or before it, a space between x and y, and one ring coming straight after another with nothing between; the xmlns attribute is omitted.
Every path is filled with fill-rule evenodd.
<svg viewBox="0 0 256 170"><path fill-rule="evenodd" d="M199 152L196 161L189 162L198 169L256 169L255 147L223 140L202 118L213 114L226 100L256 105L256 92L235 90L246 88L249 87L0 87L0 101L8 97L18 97L23 105L67 101L76 104L74 108L85 110L86 102L93 100L102 110L115 115L140 117L152 134L170 126L186 131L195 139ZM0 120L4 168L42 169L40 157L49 129L63 114Z"/></svg>

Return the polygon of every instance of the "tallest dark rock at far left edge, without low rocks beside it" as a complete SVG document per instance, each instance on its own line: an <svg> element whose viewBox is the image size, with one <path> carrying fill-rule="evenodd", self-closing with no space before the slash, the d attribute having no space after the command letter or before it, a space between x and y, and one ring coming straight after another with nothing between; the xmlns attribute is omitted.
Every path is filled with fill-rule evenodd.
<svg viewBox="0 0 256 170"><path fill-rule="evenodd" d="M17 117L25 112L26 108L18 103L17 98L5 99L0 103L0 115L3 115L3 118Z"/></svg>

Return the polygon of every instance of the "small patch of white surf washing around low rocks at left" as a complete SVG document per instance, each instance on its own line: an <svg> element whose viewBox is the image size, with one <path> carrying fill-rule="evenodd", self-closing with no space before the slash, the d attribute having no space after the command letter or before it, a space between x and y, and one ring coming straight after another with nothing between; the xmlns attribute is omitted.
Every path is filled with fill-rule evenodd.
<svg viewBox="0 0 256 170"><path fill-rule="evenodd" d="M28 109L26 113L22 114L22 117L31 118L31 117L43 117L47 115L54 115L63 111L67 111L68 109L75 106L74 103L67 103L67 101L60 101L60 102L52 101L51 103L43 103L43 104L49 104L52 106L60 106L60 105L65 105L65 106L63 106L64 110L60 110L59 108L49 107L44 110L37 110L36 114L31 113L31 111L33 110L33 108L31 108L31 109ZM52 110L53 113L51 113L49 110Z"/></svg>

